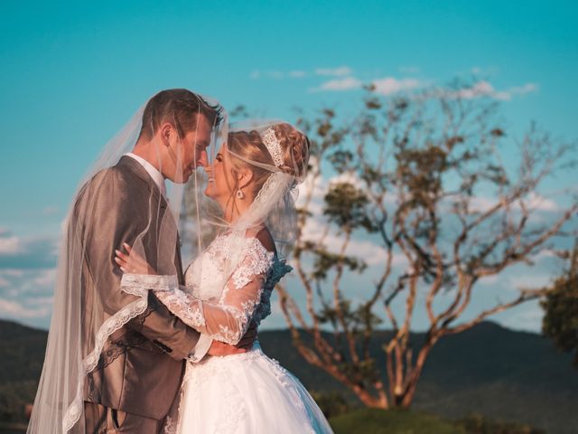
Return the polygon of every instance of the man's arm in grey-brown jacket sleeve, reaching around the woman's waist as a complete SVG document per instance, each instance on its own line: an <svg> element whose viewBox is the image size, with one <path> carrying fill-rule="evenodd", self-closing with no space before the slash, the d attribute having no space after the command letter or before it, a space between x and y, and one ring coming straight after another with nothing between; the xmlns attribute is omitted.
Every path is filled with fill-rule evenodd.
<svg viewBox="0 0 578 434"><path fill-rule="evenodd" d="M148 227L148 203L135 203L130 185L124 174L108 169L91 185L81 203L84 204L86 231L85 258L89 265L98 298L108 315L137 300L120 288L122 271L114 260L115 249L122 242L133 243ZM81 204L82 208L82 204ZM148 306L141 316L126 326L135 329L172 358L187 358L198 344L200 334L185 325L158 301L148 294ZM203 354L204 355L204 354Z"/></svg>

